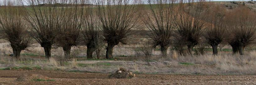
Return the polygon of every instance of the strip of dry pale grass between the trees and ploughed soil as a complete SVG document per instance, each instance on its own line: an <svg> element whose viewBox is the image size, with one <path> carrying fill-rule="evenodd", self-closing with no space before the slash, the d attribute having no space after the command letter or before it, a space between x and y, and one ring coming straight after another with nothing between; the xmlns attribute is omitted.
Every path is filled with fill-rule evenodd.
<svg viewBox="0 0 256 85"><path fill-rule="evenodd" d="M60 65L55 56L63 54L62 52L60 48L53 50L54 57L50 60L27 56L21 56L20 60L13 60L10 56L2 55L0 68L40 66L43 70L111 73L118 67L124 67L135 73L151 74L256 74L256 51L247 52L244 56L223 53L218 56L211 54L180 56L173 51L172 55L165 58L158 55L152 56L152 61L149 62L151 66L148 66L142 56L124 57L130 58L131 61L77 61L76 58L72 58Z"/></svg>

